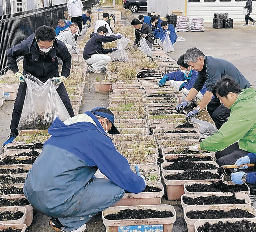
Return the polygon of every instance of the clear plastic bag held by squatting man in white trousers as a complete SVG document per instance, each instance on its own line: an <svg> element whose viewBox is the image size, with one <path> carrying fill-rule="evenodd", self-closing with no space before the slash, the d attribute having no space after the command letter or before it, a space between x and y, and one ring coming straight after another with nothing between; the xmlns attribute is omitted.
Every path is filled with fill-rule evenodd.
<svg viewBox="0 0 256 232"><path fill-rule="evenodd" d="M121 34L117 33L117 35L121 35ZM128 40L128 42L127 42L127 40ZM110 57L112 58L112 60L123 61L123 62L128 62L129 61L129 57L128 57L125 49L124 49L128 45L129 41L130 41L129 39L127 39L123 36L122 36L121 39L117 40L118 50L116 52L112 52L110 54Z"/></svg>

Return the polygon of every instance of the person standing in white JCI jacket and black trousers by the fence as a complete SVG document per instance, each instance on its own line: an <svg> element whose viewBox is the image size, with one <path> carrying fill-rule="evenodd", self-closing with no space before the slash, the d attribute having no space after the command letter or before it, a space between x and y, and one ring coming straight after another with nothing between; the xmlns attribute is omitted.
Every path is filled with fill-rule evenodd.
<svg viewBox="0 0 256 232"><path fill-rule="evenodd" d="M71 21L77 23L80 31L79 35L82 35L83 4L81 0L69 0L67 6L68 14L71 17ZM77 35L75 35L75 40L77 41Z"/></svg>

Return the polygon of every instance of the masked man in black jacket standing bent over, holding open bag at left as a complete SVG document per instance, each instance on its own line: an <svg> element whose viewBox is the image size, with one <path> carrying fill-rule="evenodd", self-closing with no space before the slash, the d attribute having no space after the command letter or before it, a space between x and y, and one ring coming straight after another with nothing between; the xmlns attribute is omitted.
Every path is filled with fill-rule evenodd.
<svg viewBox="0 0 256 232"><path fill-rule="evenodd" d="M55 84L60 84L57 92L67 108L70 117L75 116L67 90L63 81L70 74L71 55L65 44L55 39L56 33L54 28L50 26L40 26L36 28L35 34L30 35L26 40L13 46L7 51L9 68L15 73L19 79L20 86L11 121L11 134L8 140L3 144L11 143L18 135L18 125L21 118L21 112L26 96L26 82L24 76L28 73L35 76L42 82L46 82L50 77L58 77ZM24 56L23 73L19 71L17 65L17 57ZM63 61L61 76L59 75L58 58Z"/></svg>

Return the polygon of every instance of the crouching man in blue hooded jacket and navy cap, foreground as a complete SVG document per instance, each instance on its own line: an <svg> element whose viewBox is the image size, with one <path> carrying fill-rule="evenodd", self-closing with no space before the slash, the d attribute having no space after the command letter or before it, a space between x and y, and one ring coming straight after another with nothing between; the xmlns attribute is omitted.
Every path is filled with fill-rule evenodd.
<svg viewBox="0 0 256 232"><path fill-rule="evenodd" d="M27 174L24 194L38 211L52 217L56 231L82 232L96 213L112 206L125 190L140 193L145 177L130 170L109 134L120 134L114 114L96 107L62 122L56 118L51 137ZM96 178L100 170L108 179Z"/></svg>

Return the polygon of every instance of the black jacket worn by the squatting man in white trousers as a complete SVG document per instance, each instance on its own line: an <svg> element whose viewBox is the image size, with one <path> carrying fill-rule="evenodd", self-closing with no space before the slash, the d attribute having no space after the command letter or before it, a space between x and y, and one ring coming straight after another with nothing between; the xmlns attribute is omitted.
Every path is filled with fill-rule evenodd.
<svg viewBox="0 0 256 232"><path fill-rule="evenodd" d="M89 59L93 54L112 53L112 49L103 49L102 43L108 43L119 39L116 35L100 35L98 32L92 32L90 39L85 44L83 49L83 58Z"/></svg>

